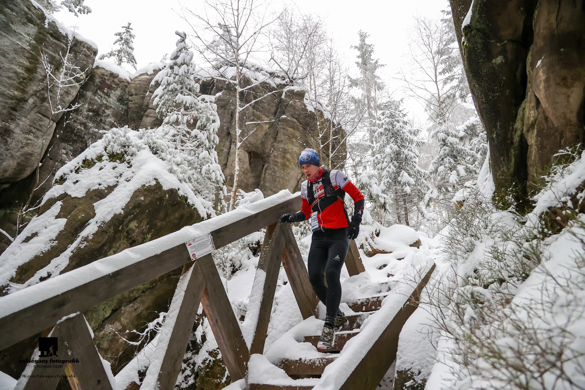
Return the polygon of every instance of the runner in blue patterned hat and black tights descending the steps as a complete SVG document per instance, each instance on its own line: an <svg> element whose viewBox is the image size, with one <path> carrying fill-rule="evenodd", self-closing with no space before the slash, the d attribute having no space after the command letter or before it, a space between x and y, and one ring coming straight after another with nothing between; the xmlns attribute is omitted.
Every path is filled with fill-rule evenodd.
<svg viewBox="0 0 585 390"><path fill-rule="evenodd" d="M328 349L335 343L335 330L341 329L347 322L345 314L339 310L339 274L347 255L349 240L355 240L360 230L364 197L345 173L321 167L319 155L314 149L303 150L298 164L307 175L307 180L301 185L301 211L285 214L278 222L311 220L313 235L308 258L309 281L327 308L317 348ZM355 203L351 220L343 205L346 192ZM327 285L324 278L327 279Z"/></svg>

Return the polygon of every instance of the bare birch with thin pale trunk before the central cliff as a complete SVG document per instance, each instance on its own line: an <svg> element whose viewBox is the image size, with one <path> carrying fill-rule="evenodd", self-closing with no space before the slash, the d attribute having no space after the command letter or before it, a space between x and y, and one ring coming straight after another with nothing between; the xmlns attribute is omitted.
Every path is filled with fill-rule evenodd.
<svg viewBox="0 0 585 390"><path fill-rule="evenodd" d="M244 104L244 92L269 81L271 76L266 74L261 80L250 81L246 72L255 68L252 56L263 49L260 37L264 29L276 18L269 18L266 13L266 4L261 0L205 0L205 11L191 11L184 8L184 19L190 23L199 54L214 68L216 74L211 74L216 80L224 81L235 89L235 163L233 174L233 188L228 210L233 209L238 194L239 153L240 147L255 129L247 134L240 123L242 111L278 90L253 99ZM191 18L197 23L192 23ZM250 123L247 123L250 124Z"/></svg>

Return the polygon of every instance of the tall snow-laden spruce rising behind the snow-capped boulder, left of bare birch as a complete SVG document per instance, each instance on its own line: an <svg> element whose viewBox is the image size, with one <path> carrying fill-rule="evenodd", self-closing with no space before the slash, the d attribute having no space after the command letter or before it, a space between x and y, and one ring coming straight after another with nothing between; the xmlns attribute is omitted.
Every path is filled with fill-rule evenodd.
<svg viewBox="0 0 585 390"><path fill-rule="evenodd" d="M156 112L163 119L159 132L181 156L188 156L187 165L196 175L190 180L197 182L197 189L207 200L214 201L217 192L223 191L224 180L215 151L219 142L217 106L214 96L198 95L193 52L185 43L187 34L175 33L179 37L177 47L153 81L160 82L154 91Z"/></svg>

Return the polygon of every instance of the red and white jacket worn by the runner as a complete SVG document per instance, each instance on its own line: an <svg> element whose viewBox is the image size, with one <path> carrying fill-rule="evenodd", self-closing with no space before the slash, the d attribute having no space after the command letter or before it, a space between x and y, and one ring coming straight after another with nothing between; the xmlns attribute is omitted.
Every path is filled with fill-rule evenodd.
<svg viewBox="0 0 585 390"><path fill-rule="evenodd" d="M331 184L333 185L333 189L341 188L343 191L347 192L349 196L352 197L353 202L357 203L359 201L360 205L358 206L360 209L356 209L356 213L359 216L362 216L363 211L363 199L364 196L362 192L349 180L345 173L340 170L331 170L329 172L329 177L331 178ZM313 182L313 194L315 196L315 201L312 205L309 205L308 196L307 196L307 188L308 188L308 181L305 180L301 184L301 199L302 199L302 208L301 212L305 214L305 217L309 219L312 213L312 206L315 205L319 200L321 200L325 196L325 191L322 183L322 177L319 177L316 181ZM343 202L341 199L337 199L335 203L328 206L324 210L318 210L317 220L319 222L319 226L326 227L328 229L340 229L342 227L347 227L347 218L345 216L345 211L343 209Z"/></svg>

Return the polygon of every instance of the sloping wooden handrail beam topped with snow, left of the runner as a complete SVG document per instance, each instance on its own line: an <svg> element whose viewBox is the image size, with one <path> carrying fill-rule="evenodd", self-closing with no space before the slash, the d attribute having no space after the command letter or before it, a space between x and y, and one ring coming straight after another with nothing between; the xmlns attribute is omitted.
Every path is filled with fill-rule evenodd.
<svg viewBox="0 0 585 390"><path fill-rule="evenodd" d="M285 200L273 204L275 199L280 198ZM266 208L262 208L263 204L266 205ZM211 233L215 248L218 249L277 222L282 214L294 212L300 208L300 195L290 194L287 196L280 192L264 199L264 201L252 203L248 209L236 209L230 212L232 214L225 213L195 224L193 227L199 225L214 227L202 234ZM242 215L242 218L232 220L230 219L232 215ZM225 220L225 225L217 226L217 221L221 222L222 220ZM185 237L185 233L181 230L168 234L160 239L126 249L121 253L102 258L0 298L0 329L2 329L0 350L55 325L65 316L83 312L122 294L122 292L189 263L191 259L183 243L152 256L142 254L145 249L156 250L154 249L156 243L165 243L165 239L170 236L176 240L177 236ZM188 239L192 238L195 237ZM127 254L132 262L123 267L113 268L112 264L115 263L115 260L125 258L123 254ZM97 276L88 278L88 273ZM84 282L73 287L68 287L68 285L63 287L63 282L70 281L73 277L79 277Z"/></svg>

